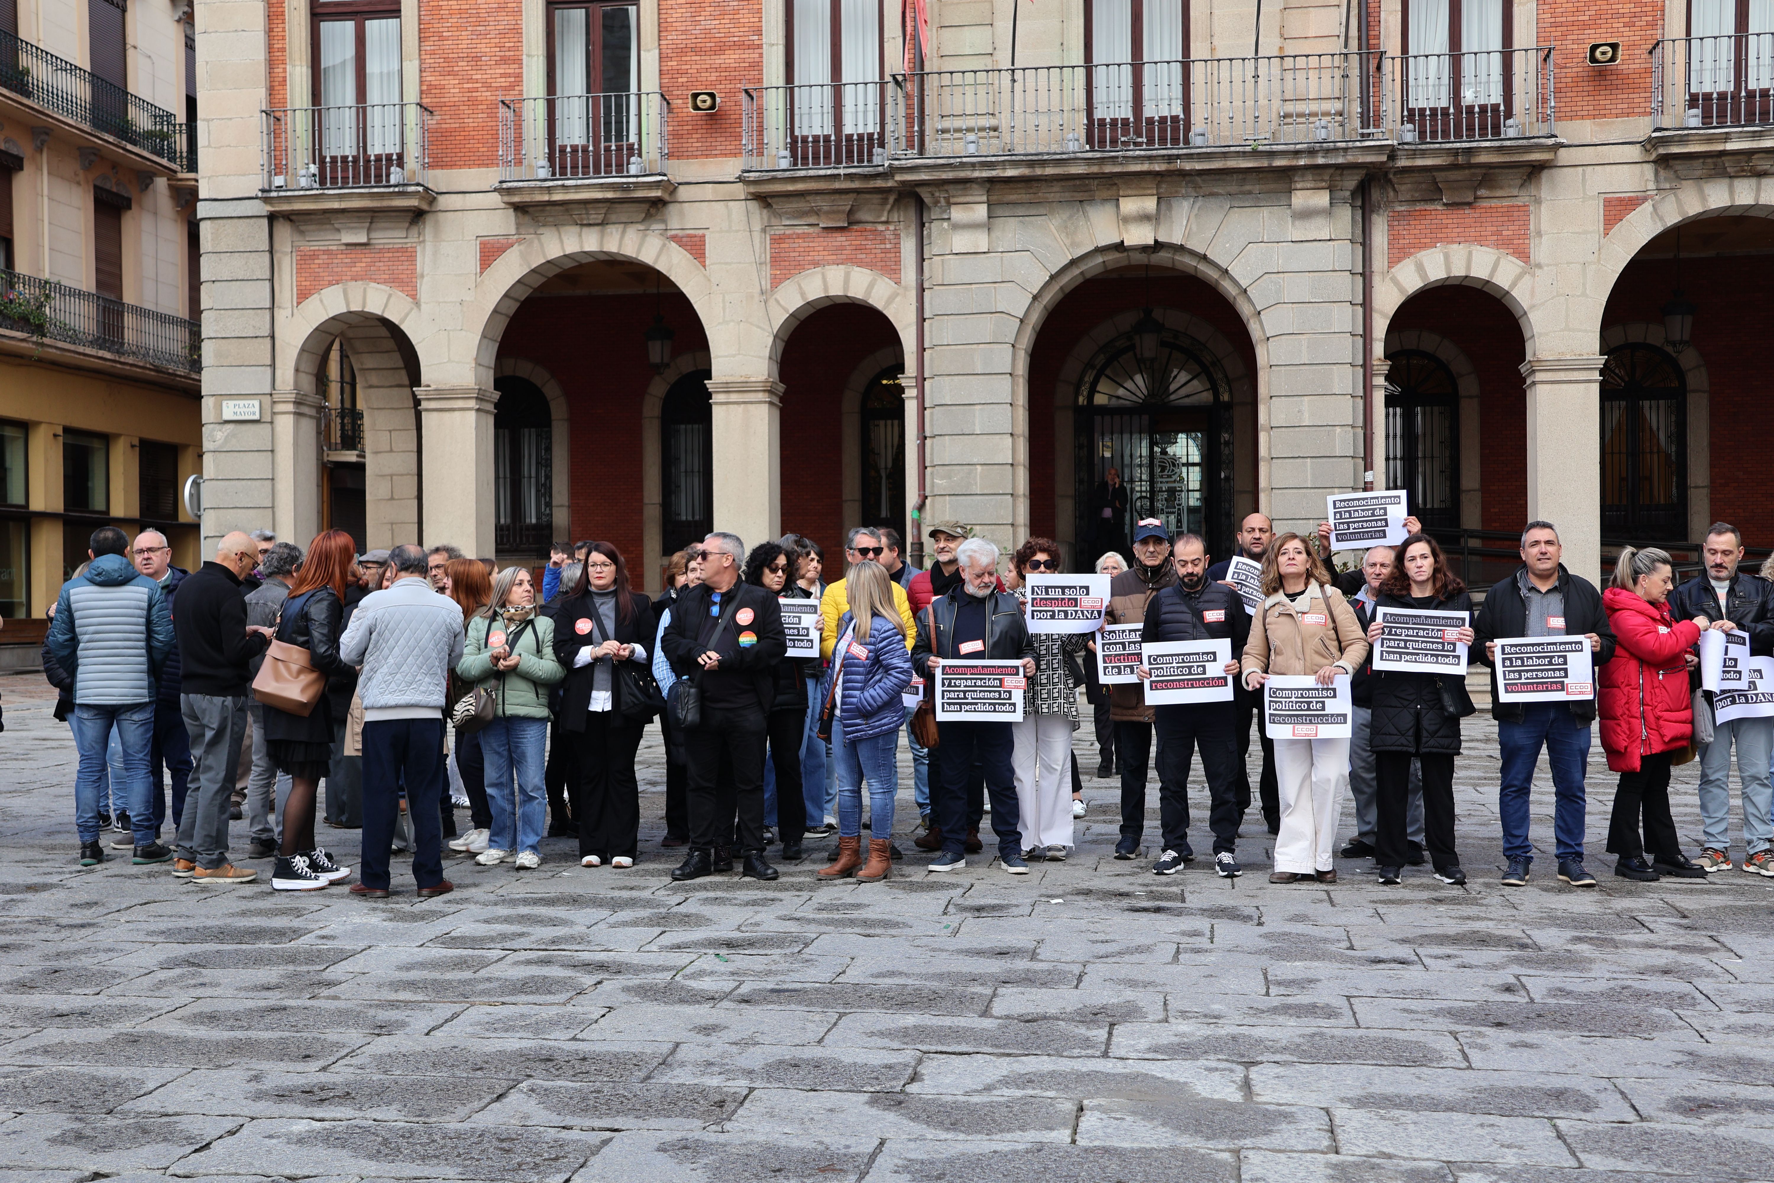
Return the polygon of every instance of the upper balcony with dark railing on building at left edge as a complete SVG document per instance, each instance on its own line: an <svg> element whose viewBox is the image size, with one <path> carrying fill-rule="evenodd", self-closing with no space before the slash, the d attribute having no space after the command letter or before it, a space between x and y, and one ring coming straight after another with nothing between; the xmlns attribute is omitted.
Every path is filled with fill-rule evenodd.
<svg viewBox="0 0 1774 1183"><path fill-rule="evenodd" d="M197 172L190 124L89 69L0 30L0 90L94 131L170 172Z"/></svg>

